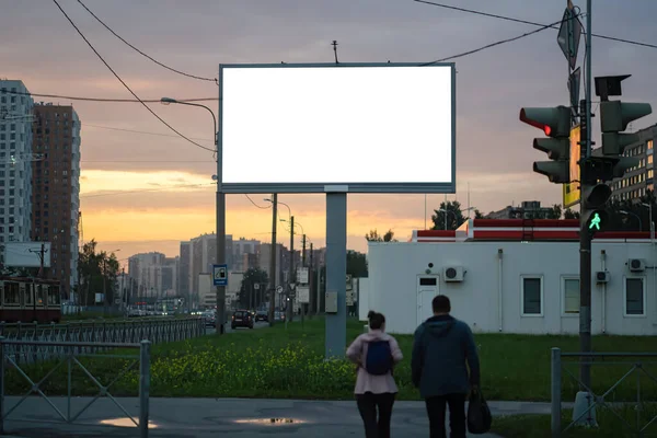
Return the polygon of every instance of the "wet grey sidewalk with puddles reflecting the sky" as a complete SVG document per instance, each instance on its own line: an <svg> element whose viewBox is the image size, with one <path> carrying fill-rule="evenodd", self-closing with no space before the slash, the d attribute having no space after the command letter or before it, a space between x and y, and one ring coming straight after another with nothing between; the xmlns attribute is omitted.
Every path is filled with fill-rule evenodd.
<svg viewBox="0 0 657 438"><path fill-rule="evenodd" d="M5 397L5 412L20 399ZM65 415L66 397L51 399ZM71 399L71 413L77 414L91 397ZM138 419L136 397L117 399ZM493 415L549 414L549 403L489 402ZM7 436L25 438L128 438L138 430L110 400L100 399L76 422L56 422L58 415L41 397L30 397L12 412L4 423ZM117 420L117 418L120 418ZM274 420L273 420L274 418ZM291 422L281 420L289 418ZM123 423L128 427L103 426ZM299 401L254 399L151 399L149 437L153 438L262 438L278 437L361 437L362 423L353 401ZM428 436L428 419L423 402L396 402L392 416L392 435L397 437ZM477 435L495 437L495 435ZM0 437L4 437L0 435Z"/></svg>

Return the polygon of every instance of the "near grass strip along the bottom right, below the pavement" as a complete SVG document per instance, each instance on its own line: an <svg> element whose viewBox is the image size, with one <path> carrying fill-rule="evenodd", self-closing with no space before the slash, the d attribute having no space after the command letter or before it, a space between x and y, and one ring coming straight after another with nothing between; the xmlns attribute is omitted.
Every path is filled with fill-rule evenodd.
<svg viewBox="0 0 657 438"><path fill-rule="evenodd" d="M564 438L619 438L631 437L632 431L636 429L636 411L633 406L618 408L615 412L622 416L632 427L629 428L619 417L606 408L597 410L597 428L572 427L563 433ZM644 405L641 411L639 429L657 414L655 404ZM562 413L562 430L565 429L573 420L573 411L565 410ZM551 438L550 431L550 415L509 415L493 418L492 430L505 438ZM646 430L644 436L657 435L657 422L653 423Z"/></svg>

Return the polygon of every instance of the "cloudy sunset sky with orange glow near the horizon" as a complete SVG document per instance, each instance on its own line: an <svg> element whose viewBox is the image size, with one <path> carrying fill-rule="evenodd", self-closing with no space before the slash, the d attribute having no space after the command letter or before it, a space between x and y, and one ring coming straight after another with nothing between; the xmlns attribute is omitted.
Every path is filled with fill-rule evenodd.
<svg viewBox="0 0 657 438"><path fill-rule="evenodd" d="M447 0L446 0L447 1ZM83 0L100 19L136 47L172 68L216 78L219 64L332 62L337 39L342 61L431 61L511 38L537 27L411 0ZM59 0L99 53L145 100L216 99L217 85L169 71L126 46L76 0ZM576 1L584 7L584 0ZM595 2L593 33L657 42L657 2ZM538 23L561 20L561 0L451 0L448 4ZM131 99L91 51L56 4L47 0L4 1L0 16L0 77L22 80L33 93ZM626 25L619 26L619 23ZM561 186L531 171L545 155L533 150L539 131L518 120L521 106L568 103L567 65L545 30L488 48L457 62L458 199L487 212L511 203L561 203ZM657 50L593 38L593 76L632 73L624 100L657 103ZM580 53L584 51L584 39ZM579 60L583 65L583 60ZM84 241L118 250L177 255L180 241L215 229L211 152L175 136L139 103L99 103L35 97L73 104L82 122L81 209ZM215 113L217 101L204 102ZM212 125L201 108L150 104L186 136L212 148ZM593 108L596 110L596 106ZM649 116L634 124L654 124ZM598 120L593 119L596 126ZM597 136L597 132L596 132ZM276 147L273 142L272 147ZM397 153L403 153L403 147ZM381 153L358 168L395 160ZM422 157L417 157L422 160ZM308 157L308 165L322 165ZM247 164L245 164L247 166ZM281 172L288 170L281 165ZM228 196L227 232L269 241L269 194ZM391 228L401 240L424 228L424 195L349 195L348 246L365 251L364 234ZM445 199L429 195L427 216ZM319 247L324 245L323 195L280 195ZM287 208L280 207L287 218ZM430 219L427 218L428 223ZM279 242L289 244L281 223ZM296 245L299 245L300 238Z"/></svg>

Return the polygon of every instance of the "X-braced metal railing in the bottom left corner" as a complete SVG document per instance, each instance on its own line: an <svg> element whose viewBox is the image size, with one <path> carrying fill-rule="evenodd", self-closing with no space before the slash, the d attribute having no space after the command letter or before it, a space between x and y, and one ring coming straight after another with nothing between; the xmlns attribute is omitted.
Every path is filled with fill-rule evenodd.
<svg viewBox="0 0 657 438"><path fill-rule="evenodd" d="M11 355L7 354L8 349L15 349L18 346L26 346L26 347L59 347L64 350L64 355L60 360L46 373L45 377L41 378L41 380L36 381L36 379L31 378L24 369L24 366L21 367L19 362L14 360ZM12 348L13 347L13 348ZM84 354L87 348L126 348L126 349L139 349L138 355L114 355L114 358L124 358L124 359L134 359L131 362L123 369L120 372L117 372L117 376L110 382L107 385L103 385L96 377L94 377L89 369L82 365L79 360L80 357L84 356L93 356L89 354ZM0 336L0 434L4 434L4 423L7 418L14 413L14 411L30 396L34 394L38 394L43 400L53 407L55 413L57 414L57 422L73 424L76 420L80 418L80 416L99 399L107 397L110 399L119 411L122 411L127 418L129 418L135 426L139 428L139 436L141 438L148 437L148 417L149 417L149 392L150 392L150 341L141 341L138 344L92 344L92 343L79 343L79 342L41 342L41 341L9 341L4 339ZM67 396L66 396L66 414L62 413L62 410L57 407L56 401L48 397L44 391L43 385L51 377L55 371L57 371L62 365L67 366ZM139 419L137 420L132 415L128 413L128 411L112 395L110 392L111 387L116 383L123 376L125 376L128 371L135 368L136 365L139 365ZM5 406L5 372L7 368L13 367L16 372L25 379L25 381L30 384L30 390L21 397L21 400L15 403L13 406ZM71 408L71 397L74 396L71 394L72 390L72 371L73 368L80 368L82 372L91 379L91 381L99 387L99 393L77 412L73 412ZM12 418L12 420L26 420L21 418ZM53 420L39 420L30 418L31 423L53 423Z"/></svg>

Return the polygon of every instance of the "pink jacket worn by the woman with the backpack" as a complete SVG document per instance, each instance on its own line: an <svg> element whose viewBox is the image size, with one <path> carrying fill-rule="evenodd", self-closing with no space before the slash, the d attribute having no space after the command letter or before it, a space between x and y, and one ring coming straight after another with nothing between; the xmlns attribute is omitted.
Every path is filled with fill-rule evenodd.
<svg viewBox="0 0 657 438"><path fill-rule="evenodd" d="M347 348L347 358L354 364L365 365L368 347L367 343L371 341L388 341L390 343L394 364L399 364L404 358L396 339L380 330L370 330L369 333L358 336L356 341L349 345L349 348ZM385 376L372 376L367 372L364 366L359 366L354 393L365 394L366 392L371 392L373 394L382 394L385 392L396 393L399 392L399 389L392 373L389 372Z"/></svg>

